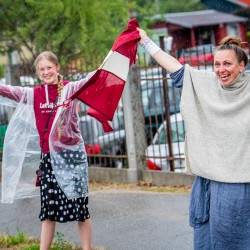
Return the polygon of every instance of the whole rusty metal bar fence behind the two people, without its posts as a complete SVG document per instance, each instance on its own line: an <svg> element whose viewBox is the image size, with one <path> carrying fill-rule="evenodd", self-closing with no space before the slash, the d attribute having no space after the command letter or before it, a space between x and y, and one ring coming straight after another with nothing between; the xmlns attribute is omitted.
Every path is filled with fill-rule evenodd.
<svg viewBox="0 0 250 250"><path fill-rule="evenodd" d="M187 51L183 50L179 53L179 60L183 63L189 62L197 68L211 70L211 48L204 49L203 54L198 54L200 51L202 50L195 51L194 55L191 51L187 54ZM137 148L143 145L138 161L142 159L144 169L185 172L185 124L179 113L181 89L172 86L169 73L148 55L140 56L137 66L130 72L132 74L130 77L135 79L134 85L130 85L130 88L139 86L139 91L135 90L138 92L133 96L139 105L134 105L131 109L135 114L134 119L142 117L137 121L142 124L140 129L132 132L135 134L140 132L140 137L137 137L134 146ZM77 72L65 78L78 80L85 75L86 72ZM27 85L34 86L34 83ZM133 168L129 163L130 149L127 138L131 136L127 129L130 121L128 122L124 115L128 104L128 99L121 99L111 124L114 131L107 134L103 133L98 121L87 115L88 107L80 104L79 128L85 142L90 167Z"/></svg>

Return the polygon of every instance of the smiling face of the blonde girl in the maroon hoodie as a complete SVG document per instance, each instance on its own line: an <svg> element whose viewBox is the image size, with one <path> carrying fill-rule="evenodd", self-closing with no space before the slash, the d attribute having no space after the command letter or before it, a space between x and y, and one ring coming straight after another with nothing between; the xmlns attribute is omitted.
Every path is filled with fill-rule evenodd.
<svg viewBox="0 0 250 250"><path fill-rule="evenodd" d="M38 63L38 76L47 84L58 84L57 73L59 70L60 65L55 65L45 58Z"/></svg>

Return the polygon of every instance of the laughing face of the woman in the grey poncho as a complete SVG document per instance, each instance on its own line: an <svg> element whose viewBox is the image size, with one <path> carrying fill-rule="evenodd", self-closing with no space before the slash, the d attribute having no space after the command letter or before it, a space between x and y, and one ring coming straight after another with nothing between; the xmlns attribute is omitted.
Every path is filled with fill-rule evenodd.
<svg viewBox="0 0 250 250"><path fill-rule="evenodd" d="M236 54L233 50L219 50L215 52L214 72L222 86L230 86L244 69L244 62L238 63Z"/></svg>

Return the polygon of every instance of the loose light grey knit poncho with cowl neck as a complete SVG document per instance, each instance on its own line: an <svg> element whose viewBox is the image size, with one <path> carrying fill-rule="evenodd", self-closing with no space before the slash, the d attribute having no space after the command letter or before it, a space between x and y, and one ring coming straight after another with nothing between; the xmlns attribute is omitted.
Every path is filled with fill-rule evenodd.
<svg viewBox="0 0 250 250"><path fill-rule="evenodd" d="M250 182L250 75L225 88L213 72L185 65L181 113L191 172L210 180Z"/></svg>

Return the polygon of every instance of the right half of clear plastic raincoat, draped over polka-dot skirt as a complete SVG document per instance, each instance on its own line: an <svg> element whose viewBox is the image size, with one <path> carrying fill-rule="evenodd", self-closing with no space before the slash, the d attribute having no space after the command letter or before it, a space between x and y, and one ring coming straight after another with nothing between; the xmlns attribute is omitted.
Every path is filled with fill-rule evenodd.
<svg viewBox="0 0 250 250"><path fill-rule="evenodd" d="M69 98L78 89L76 87L76 83L68 83L64 87L62 100ZM68 199L88 195L88 163L78 129L78 102L74 99L70 102L70 107L58 108L49 137L54 174ZM67 163L68 159L70 163Z"/></svg>

